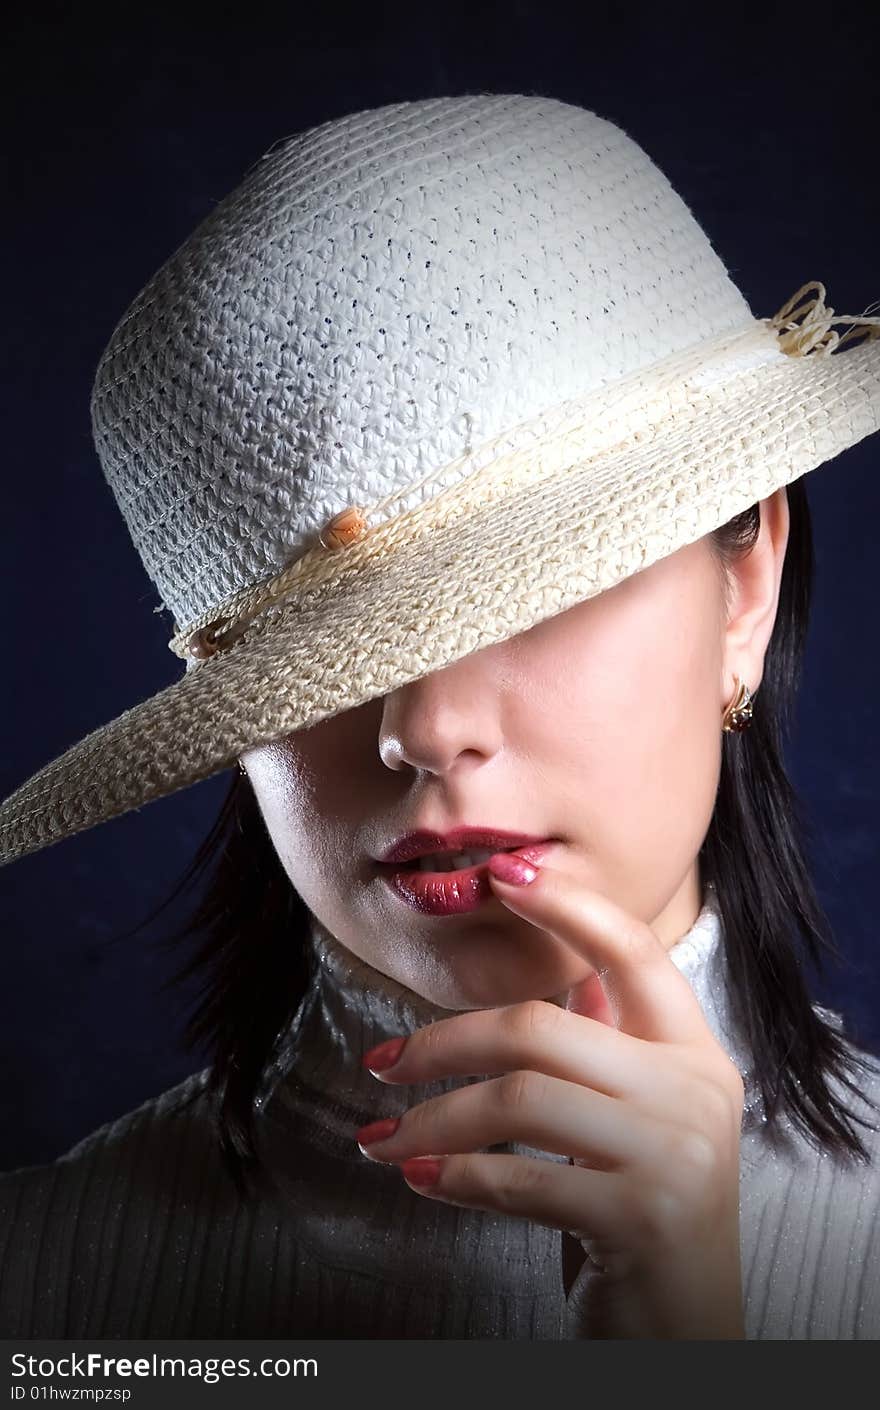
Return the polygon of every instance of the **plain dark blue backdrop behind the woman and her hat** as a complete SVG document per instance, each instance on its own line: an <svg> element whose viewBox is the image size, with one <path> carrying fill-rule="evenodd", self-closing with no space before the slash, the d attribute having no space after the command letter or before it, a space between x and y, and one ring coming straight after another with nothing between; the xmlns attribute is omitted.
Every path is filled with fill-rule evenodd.
<svg viewBox="0 0 880 1410"><path fill-rule="evenodd" d="M39 7L7 30L3 492L6 798L172 680L166 618L92 447L89 391L134 295L272 142L381 103L534 92L619 123L668 175L757 316L821 279L880 299L877 32L857 4L747 10L506 0ZM85 13L86 11L86 13ZM719 18L723 14L723 21ZM14 133L14 137L10 135ZM818 990L880 1039L876 512L880 444L808 477L818 575L790 768L845 974ZM204 1066L172 957L133 926L230 774L0 870L0 1167L45 1160ZM179 912L175 912L175 916ZM151 935L157 933L149 931ZM176 966L175 966L176 967Z"/></svg>

